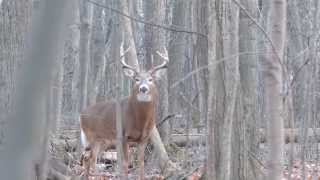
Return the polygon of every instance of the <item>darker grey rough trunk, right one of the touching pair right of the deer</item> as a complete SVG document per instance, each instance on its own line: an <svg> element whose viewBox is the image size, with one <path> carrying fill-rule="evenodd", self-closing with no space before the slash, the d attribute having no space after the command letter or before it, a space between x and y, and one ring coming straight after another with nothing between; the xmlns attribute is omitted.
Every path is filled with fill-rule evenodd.
<svg viewBox="0 0 320 180"><path fill-rule="evenodd" d="M241 4L257 19L257 0L241 0ZM257 51L257 30L252 26L252 20L240 11L239 21L239 53L256 52ZM235 136L234 144L239 144L235 147L238 151L238 156L233 159L239 160L238 168L234 168L239 174L233 179L255 180L257 179L257 169L255 162L249 155L256 153L258 145L257 138L257 55L241 55L239 56L240 70L240 103L237 108L239 117L236 121L235 128L239 129L239 135Z"/></svg>

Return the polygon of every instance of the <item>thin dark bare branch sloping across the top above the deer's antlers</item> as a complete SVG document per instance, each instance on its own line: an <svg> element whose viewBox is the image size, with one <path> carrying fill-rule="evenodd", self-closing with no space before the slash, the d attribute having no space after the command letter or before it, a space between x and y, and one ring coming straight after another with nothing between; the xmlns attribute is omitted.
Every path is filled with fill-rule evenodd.
<svg viewBox="0 0 320 180"><path fill-rule="evenodd" d="M207 39L207 35L206 34L202 34L200 32L189 31L189 30L186 30L186 29L176 29L176 28L172 28L172 27L169 27L169 26L161 25L161 24L154 24L154 23L151 23L151 22L148 22L148 21L145 21L145 20L130 16L128 14L125 14L125 13L121 12L119 9L115 9L115 8L112 8L112 7L109 7L109 6L106 6L106 5L102 5L102 4L99 4L99 3L95 2L95 1L92 1L92 0L87 0L87 2L89 2L91 4L94 4L96 6L99 6L101 8L110 9L111 11L113 11L113 12L115 12L115 13L121 15L121 16L124 16L126 18L129 18L129 19L131 19L131 20L133 20L135 22L138 22L138 23L146 24L146 25L157 27L157 28L160 28L160 29L165 29L167 31L187 33L187 34L195 34L195 35L202 36L202 37Z"/></svg>

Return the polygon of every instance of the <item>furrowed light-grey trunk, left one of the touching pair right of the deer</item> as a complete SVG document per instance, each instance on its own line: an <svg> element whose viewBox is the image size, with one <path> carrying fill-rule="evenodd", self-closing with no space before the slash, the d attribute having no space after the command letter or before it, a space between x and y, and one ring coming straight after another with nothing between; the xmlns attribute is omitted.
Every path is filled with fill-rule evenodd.
<svg viewBox="0 0 320 180"><path fill-rule="evenodd" d="M217 60L238 54L239 8L231 1L218 1L217 11ZM214 121L216 178L231 179L232 129L239 84L237 56L217 65L214 88Z"/></svg>

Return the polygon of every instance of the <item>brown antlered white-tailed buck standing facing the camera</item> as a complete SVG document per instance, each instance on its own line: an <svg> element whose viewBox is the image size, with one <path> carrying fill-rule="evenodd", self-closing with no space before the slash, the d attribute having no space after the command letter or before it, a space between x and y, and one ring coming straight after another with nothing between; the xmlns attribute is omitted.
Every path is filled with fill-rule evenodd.
<svg viewBox="0 0 320 180"><path fill-rule="evenodd" d="M131 94L121 100L123 126L124 172L128 176L129 144L138 144L139 179L144 179L144 150L150 132L155 126L155 105L157 88L154 83L167 68L168 54L160 54L164 61L149 71L138 71L121 60L124 74L134 80ZM116 132L116 101L101 102L89 106L80 115L81 140L85 153L89 154L88 169L95 170L97 155L101 150L115 146Z"/></svg>

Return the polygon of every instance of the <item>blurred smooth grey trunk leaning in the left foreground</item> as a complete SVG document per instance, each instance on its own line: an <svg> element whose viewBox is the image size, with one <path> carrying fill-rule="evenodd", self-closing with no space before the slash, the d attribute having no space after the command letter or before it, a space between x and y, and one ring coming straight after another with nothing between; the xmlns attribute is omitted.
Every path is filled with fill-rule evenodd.
<svg viewBox="0 0 320 180"><path fill-rule="evenodd" d="M39 16L34 16L33 44L17 79L14 114L10 118L6 132L8 139L1 153L0 171L4 179L34 179L36 156L39 151L46 150L39 143L41 138L48 136L48 132L43 131L46 123L45 96L51 65L59 49L60 38L57 37L62 37L66 29L70 2L42 1Z"/></svg>

